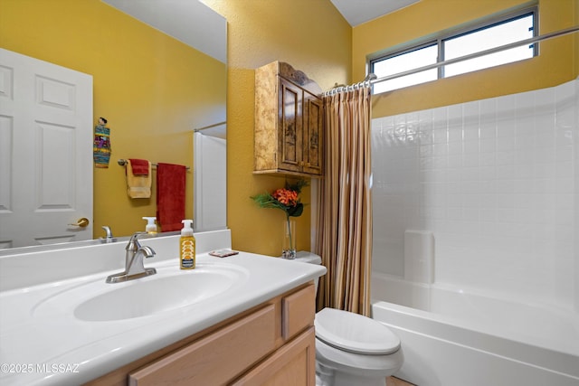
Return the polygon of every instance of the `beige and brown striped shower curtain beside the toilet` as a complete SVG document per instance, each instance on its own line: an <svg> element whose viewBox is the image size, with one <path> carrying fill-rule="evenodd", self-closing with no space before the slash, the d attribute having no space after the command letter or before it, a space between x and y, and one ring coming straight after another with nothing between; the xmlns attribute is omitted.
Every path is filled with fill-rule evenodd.
<svg viewBox="0 0 579 386"><path fill-rule="evenodd" d="M370 87L324 97L325 174L318 194L318 309L370 315Z"/></svg>

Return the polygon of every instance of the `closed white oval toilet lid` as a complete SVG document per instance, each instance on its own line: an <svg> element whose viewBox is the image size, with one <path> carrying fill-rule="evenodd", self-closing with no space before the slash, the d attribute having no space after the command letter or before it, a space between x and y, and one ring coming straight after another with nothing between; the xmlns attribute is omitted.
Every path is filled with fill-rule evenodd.
<svg viewBox="0 0 579 386"><path fill-rule="evenodd" d="M385 355L400 349L400 338L374 319L351 312L324 308L314 321L316 337L350 353Z"/></svg>

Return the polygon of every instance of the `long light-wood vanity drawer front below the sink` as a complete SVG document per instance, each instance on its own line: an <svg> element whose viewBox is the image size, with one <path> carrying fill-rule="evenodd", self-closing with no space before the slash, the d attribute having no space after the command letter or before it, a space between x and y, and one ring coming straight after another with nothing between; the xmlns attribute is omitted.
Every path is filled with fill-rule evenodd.
<svg viewBox="0 0 579 386"><path fill-rule="evenodd" d="M224 384L275 348L275 307L264 306L128 375L129 385Z"/></svg>

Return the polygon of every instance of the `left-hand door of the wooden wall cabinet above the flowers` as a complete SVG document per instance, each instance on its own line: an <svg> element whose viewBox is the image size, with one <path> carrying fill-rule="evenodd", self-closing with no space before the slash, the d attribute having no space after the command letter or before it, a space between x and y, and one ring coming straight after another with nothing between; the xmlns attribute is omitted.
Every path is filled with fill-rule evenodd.
<svg viewBox="0 0 579 386"><path fill-rule="evenodd" d="M288 80L280 78L278 99L278 167L300 172L302 149L303 91Z"/></svg>

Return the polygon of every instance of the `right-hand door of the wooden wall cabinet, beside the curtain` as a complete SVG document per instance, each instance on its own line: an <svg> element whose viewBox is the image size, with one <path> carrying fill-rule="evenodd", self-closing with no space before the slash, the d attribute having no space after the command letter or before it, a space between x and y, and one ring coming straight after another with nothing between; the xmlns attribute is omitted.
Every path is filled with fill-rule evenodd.
<svg viewBox="0 0 579 386"><path fill-rule="evenodd" d="M303 171L322 174L324 108L321 99L304 91Z"/></svg>

